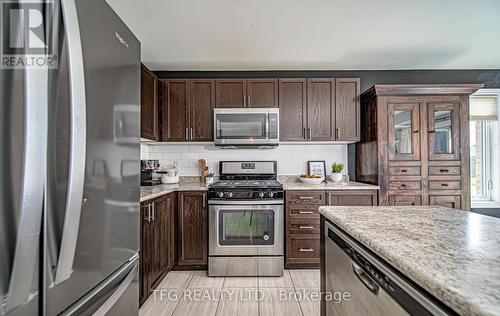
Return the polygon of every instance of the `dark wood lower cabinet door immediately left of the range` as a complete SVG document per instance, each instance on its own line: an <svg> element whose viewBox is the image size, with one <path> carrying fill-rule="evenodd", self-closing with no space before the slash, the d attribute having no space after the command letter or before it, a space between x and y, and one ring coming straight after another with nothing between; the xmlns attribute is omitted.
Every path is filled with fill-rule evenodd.
<svg viewBox="0 0 500 316"><path fill-rule="evenodd" d="M179 266L205 266L208 262L208 223L206 192L179 192Z"/></svg>

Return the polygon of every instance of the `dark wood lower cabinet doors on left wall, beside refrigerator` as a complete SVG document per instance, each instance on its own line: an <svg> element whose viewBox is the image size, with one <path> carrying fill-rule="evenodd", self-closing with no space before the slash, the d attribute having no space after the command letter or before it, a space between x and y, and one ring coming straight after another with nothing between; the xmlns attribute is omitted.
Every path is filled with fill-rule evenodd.
<svg viewBox="0 0 500 316"><path fill-rule="evenodd" d="M175 263L176 193L141 203L140 304Z"/></svg>

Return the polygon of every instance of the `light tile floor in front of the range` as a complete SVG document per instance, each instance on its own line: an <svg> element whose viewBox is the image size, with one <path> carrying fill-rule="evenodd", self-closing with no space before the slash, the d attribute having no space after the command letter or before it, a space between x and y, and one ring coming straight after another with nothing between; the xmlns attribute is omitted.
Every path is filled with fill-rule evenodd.
<svg viewBox="0 0 500 316"><path fill-rule="evenodd" d="M285 270L283 277L226 278L209 277L206 271L172 271L139 315L315 316L320 302L312 292L319 292L319 270Z"/></svg>

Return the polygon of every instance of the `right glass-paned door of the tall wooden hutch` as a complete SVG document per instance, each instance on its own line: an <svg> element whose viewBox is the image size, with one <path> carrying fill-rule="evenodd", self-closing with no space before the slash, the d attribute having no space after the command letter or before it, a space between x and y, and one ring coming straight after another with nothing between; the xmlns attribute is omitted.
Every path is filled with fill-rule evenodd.
<svg viewBox="0 0 500 316"><path fill-rule="evenodd" d="M428 103L429 160L460 159L460 104Z"/></svg>

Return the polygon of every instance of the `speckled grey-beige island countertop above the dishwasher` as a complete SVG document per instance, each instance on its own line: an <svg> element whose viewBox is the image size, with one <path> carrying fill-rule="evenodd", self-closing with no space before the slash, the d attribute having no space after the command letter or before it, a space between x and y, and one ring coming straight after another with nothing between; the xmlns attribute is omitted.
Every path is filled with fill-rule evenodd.
<svg viewBox="0 0 500 316"><path fill-rule="evenodd" d="M500 314L500 219L439 206L319 211L458 314Z"/></svg>

